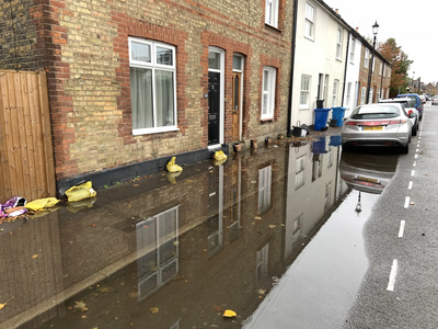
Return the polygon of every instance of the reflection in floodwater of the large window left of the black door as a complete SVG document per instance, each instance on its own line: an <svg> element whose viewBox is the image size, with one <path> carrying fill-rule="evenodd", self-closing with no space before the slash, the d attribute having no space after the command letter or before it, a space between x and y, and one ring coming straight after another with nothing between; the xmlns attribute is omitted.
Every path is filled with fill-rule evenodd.
<svg viewBox="0 0 438 329"><path fill-rule="evenodd" d="M137 223L138 299L142 300L178 272L178 206Z"/></svg>

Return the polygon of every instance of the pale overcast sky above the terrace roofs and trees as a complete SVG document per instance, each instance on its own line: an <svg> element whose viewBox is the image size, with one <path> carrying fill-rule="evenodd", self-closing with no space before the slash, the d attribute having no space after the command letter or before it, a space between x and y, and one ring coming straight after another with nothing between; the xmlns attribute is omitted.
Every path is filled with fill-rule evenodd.
<svg viewBox="0 0 438 329"><path fill-rule="evenodd" d="M438 82L438 1L390 1L390 0L323 0L353 29L359 27L364 37L372 39L372 25L379 24L377 43L395 39L397 46L414 60L408 77L422 82ZM414 73L415 72L415 73Z"/></svg>

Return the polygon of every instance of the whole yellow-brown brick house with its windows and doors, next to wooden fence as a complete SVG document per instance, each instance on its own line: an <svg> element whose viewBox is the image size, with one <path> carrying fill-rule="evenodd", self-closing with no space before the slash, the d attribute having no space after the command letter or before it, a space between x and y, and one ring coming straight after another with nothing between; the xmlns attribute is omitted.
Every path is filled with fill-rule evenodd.
<svg viewBox="0 0 438 329"><path fill-rule="evenodd" d="M47 71L61 194L287 133L292 0L0 7L0 68Z"/></svg>

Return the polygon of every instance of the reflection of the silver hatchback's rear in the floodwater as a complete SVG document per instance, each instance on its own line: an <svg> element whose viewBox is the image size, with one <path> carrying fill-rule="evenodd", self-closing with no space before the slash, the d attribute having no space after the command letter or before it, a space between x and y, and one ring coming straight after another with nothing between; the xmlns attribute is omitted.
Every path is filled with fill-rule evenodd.
<svg viewBox="0 0 438 329"><path fill-rule="evenodd" d="M354 190L380 194L395 173L396 156L345 154L341 156L339 174Z"/></svg>

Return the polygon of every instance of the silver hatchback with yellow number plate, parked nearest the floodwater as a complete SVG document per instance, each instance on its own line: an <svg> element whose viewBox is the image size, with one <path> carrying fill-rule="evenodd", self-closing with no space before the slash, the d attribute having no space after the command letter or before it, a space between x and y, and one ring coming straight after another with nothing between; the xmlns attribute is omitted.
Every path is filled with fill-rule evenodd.
<svg viewBox="0 0 438 329"><path fill-rule="evenodd" d="M407 154L412 138L410 116L399 103L360 105L344 122L341 133L343 149L391 147Z"/></svg>

